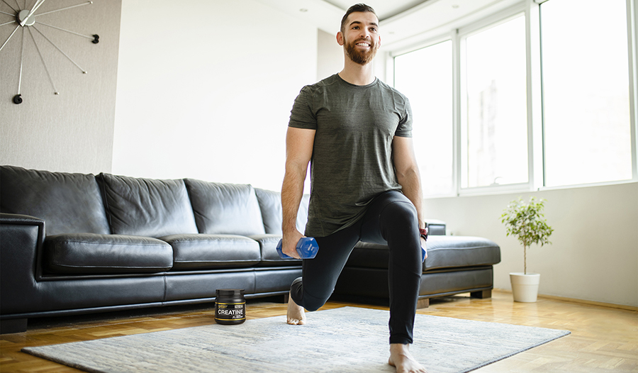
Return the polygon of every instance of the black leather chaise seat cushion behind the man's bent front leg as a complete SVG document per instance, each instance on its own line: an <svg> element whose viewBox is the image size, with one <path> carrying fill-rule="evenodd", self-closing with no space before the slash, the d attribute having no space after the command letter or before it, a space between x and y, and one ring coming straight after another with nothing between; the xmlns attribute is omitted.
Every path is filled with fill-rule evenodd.
<svg viewBox="0 0 638 373"><path fill-rule="evenodd" d="M346 266L387 269L388 259L388 246L357 243ZM432 235L427 238L427 258L423 262L423 271L496 265L498 262L500 247L491 240L480 237Z"/></svg>

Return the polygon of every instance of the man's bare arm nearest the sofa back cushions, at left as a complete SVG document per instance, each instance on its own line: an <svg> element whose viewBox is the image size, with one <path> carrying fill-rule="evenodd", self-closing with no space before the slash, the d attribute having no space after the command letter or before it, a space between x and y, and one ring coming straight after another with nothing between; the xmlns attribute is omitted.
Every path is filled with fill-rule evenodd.
<svg viewBox="0 0 638 373"><path fill-rule="evenodd" d="M306 180L308 163L313 155L315 130L289 127L286 133L286 173L281 186L281 208L284 221L281 230L284 242L281 250L290 257L299 259L295 250L297 241L304 237L297 230L296 221L303 196L303 182Z"/></svg>

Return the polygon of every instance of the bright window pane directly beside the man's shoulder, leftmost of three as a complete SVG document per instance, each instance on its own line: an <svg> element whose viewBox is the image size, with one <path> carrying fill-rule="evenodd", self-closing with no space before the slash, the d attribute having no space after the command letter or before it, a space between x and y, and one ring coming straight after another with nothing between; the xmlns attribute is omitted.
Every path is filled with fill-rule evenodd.
<svg viewBox="0 0 638 373"><path fill-rule="evenodd" d="M394 85L412 106L423 193L454 193L452 40L394 58Z"/></svg>

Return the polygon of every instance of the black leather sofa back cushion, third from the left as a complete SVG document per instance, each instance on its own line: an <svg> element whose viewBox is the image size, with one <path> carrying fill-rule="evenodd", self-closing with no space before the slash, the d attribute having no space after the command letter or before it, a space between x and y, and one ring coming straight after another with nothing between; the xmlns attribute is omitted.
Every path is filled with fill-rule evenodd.
<svg viewBox="0 0 638 373"><path fill-rule="evenodd" d="M199 233L257 235L264 233L262 213L251 185L185 179Z"/></svg>

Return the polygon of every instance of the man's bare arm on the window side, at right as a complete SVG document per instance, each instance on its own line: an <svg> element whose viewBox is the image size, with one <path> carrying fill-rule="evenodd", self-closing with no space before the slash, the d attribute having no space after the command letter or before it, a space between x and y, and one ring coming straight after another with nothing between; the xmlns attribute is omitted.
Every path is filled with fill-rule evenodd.
<svg viewBox="0 0 638 373"><path fill-rule="evenodd" d="M396 178L401 184L401 191L414 204L419 219L419 228L425 228L425 220L422 214L423 192L421 189L421 176L414 155L414 143L412 138L394 136L392 140L392 155ZM421 238L421 245L425 248L425 242Z"/></svg>

